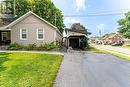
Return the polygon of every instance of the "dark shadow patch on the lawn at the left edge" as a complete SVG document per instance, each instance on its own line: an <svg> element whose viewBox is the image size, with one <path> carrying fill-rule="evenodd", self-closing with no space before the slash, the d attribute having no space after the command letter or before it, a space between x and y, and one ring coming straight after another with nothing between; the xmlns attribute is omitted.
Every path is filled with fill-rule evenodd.
<svg viewBox="0 0 130 87"><path fill-rule="evenodd" d="M3 66L3 63L10 60L8 58L9 54L11 53L6 53L6 52L0 53L0 72L6 69L6 67Z"/></svg>

